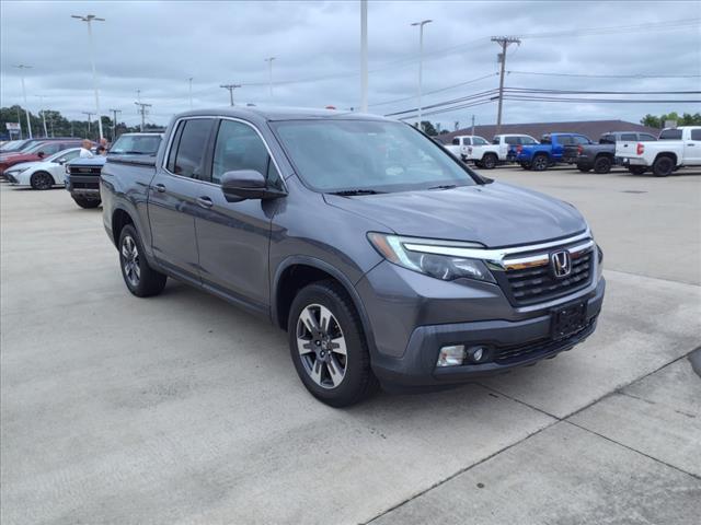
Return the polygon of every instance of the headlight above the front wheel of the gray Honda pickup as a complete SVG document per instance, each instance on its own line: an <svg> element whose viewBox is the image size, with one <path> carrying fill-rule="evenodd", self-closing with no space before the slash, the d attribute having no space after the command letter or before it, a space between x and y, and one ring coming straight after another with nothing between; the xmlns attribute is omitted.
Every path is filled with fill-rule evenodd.
<svg viewBox="0 0 701 525"><path fill-rule="evenodd" d="M496 282L494 276L492 276L482 260L430 253L437 247L450 248L458 246L457 244L446 243L445 241L400 237L383 233L368 233L368 240L382 257L403 268L444 281L476 279L479 281ZM483 247L482 245L471 245L469 243L460 243L459 246Z"/></svg>

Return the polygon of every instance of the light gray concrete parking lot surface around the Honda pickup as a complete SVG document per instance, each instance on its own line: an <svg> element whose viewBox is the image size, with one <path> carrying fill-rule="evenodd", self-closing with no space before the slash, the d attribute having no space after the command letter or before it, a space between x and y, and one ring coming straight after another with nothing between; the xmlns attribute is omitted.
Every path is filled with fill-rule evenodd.
<svg viewBox="0 0 701 525"><path fill-rule="evenodd" d="M131 296L100 209L2 184L2 523L697 524L701 172L484 174L588 219L597 331L344 410L268 323L173 280Z"/></svg>

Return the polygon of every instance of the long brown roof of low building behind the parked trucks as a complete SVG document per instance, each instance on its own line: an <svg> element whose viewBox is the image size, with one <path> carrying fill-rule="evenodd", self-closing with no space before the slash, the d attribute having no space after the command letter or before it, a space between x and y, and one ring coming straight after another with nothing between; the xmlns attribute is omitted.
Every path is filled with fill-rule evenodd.
<svg viewBox="0 0 701 525"><path fill-rule="evenodd" d="M660 130L625 120L573 120L567 122L503 124L499 135L530 135L540 139L543 135L550 133L578 133L586 135L596 141L601 135L611 131L637 131L657 137ZM461 135L472 135L472 127L441 135L439 139L446 143L450 142L453 137ZM491 140L496 135L496 126L475 126L474 135Z"/></svg>

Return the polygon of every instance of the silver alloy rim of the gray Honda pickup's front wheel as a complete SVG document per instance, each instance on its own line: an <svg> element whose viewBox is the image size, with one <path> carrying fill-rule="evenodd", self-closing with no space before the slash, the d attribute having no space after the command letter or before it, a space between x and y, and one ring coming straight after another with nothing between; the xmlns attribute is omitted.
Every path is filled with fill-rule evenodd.
<svg viewBox="0 0 701 525"><path fill-rule="evenodd" d="M347 369L346 340L338 320L321 304L309 304L297 319L297 350L312 381L335 388Z"/></svg>

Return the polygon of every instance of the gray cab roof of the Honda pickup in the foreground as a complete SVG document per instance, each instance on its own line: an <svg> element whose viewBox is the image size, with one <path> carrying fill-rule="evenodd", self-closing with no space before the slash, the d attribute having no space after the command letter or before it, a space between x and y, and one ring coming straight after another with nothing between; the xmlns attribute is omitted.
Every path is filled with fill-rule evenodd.
<svg viewBox="0 0 701 525"><path fill-rule="evenodd" d="M195 109L181 113L176 118L191 116L220 116L238 117L264 120L292 120L292 119L353 119L353 120L390 120L377 115L357 112L344 112L337 109L320 109L310 107L284 107L284 106L231 106L215 107L209 109Z"/></svg>

